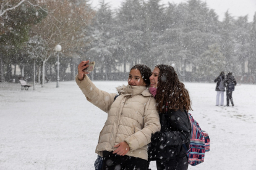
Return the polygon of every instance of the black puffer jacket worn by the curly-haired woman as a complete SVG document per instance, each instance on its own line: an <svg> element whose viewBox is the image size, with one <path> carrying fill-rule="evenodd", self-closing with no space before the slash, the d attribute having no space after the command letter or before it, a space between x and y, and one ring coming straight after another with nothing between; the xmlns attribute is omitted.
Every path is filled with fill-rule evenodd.
<svg viewBox="0 0 256 170"><path fill-rule="evenodd" d="M185 144L189 149L191 124L186 111L169 110L160 113L161 132L165 134L163 145L151 145L148 148L148 158L154 160L175 160L187 154L182 146Z"/></svg>

